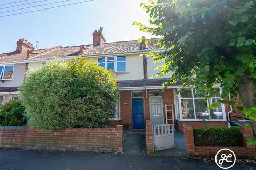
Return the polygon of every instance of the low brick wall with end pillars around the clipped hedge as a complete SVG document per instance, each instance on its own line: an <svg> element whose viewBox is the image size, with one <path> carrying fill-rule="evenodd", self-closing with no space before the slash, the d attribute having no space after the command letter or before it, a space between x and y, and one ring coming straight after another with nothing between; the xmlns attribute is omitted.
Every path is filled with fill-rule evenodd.
<svg viewBox="0 0 256 170"><path fill-rule="evenodd" d="M190 125L184 125L186 154L192 155L215 155L220 149L227 148L232 150L236 156L253 156L256 157L255 145L248 146L248 138L254 138L253 130L250 127L244 127L243 124L239 128L242 133L243 146L195 146L193 128Z"/></svg>

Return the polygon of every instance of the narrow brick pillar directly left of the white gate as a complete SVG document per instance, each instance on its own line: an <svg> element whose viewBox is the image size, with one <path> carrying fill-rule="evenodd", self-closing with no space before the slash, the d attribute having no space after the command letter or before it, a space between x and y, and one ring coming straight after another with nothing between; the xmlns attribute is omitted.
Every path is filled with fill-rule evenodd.
<svg viewBox="0 0 256 170"><path fill-rule="evenodd" d="M153 146L153 129L152 129L152 121L146 120L146 149L147 154L153 154L154 146Z"/></svg>

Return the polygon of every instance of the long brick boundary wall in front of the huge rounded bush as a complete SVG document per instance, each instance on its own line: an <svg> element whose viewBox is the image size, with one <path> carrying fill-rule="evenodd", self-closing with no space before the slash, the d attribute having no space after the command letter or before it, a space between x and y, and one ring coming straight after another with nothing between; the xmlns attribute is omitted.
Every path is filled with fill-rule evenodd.
<svg viewBox="0 0 256 170"><path fill-rule="evenodd" d="M20 149L122 151L123 125L116 128L71 128L45 132L0 126L0 147Z"/></svg>

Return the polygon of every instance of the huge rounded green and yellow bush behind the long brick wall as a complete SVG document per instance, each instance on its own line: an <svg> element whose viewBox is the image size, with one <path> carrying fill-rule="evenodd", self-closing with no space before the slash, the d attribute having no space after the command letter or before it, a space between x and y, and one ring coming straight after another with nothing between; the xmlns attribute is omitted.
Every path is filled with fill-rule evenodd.
<svg viewBox="0 0 256 170"><path fill-rule="evenodd" d="M38 129L99 127L115 115L116 79L83 57L31 70L19 89L26 117Z"/></svg>

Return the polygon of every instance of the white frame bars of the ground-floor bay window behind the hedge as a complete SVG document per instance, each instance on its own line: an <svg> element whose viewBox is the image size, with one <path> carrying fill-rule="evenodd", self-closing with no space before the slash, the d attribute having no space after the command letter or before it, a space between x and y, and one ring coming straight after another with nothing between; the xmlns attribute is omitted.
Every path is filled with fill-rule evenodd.
<svg viewBox="0 0 256 170"><path fill-rule="evenodd" d="M179 114L179 118L176 116L175 119L180 120L180 121L202 121L202 119L200 118L196 118L196 108L195 108L195 99L205 99L205 97L194 97L194 88L185 88L185 89L191 89L192 92L192 97L181 97L181 93L179 92L179 94L177 95L177 97L175 96L176 91L174 92L174 98L176 98L175 100L178 100L178 109L179 111L177 112L177 109L175 109L175 115ZM179 88L177 89L177 91L180 90ZM221 88L220 88L220 94L221 94ZM194 109L194 118L183 118L182 115L182 104L181 104L181 99L191 99L193 101L193 109ZM210 103L209 100L212 99L222 99L221 97L210 97L209 99L207 99L207 107L209 107ZM220 118L211 118L210 117L210 110L207 109L208 113L209 113L209 121L214 122L214 121L227 121L227 117L226 117L226 111L225 111L225 105L223 103L221 103L221 109L222 109L222 119Z"/></svg>

